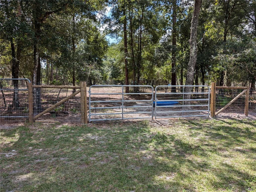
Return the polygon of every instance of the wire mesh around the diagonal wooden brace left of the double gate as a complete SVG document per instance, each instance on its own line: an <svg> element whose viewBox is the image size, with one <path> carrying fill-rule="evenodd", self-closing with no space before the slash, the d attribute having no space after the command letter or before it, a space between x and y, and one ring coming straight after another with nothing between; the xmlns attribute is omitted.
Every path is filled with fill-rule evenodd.
<svg viewBox="0 0 256 192"><path fill-rule="evenodd" d="M49 107L57 104L62 99L69 97L73 93L70 88L37 88L40 89L40 99L34 104L34 117ZM79 89L76 89L76 91ZM54 107L43 114L37 121L61 121L79 123L81 122L81 98L80 93L70 97L65 102Z"/></svg>

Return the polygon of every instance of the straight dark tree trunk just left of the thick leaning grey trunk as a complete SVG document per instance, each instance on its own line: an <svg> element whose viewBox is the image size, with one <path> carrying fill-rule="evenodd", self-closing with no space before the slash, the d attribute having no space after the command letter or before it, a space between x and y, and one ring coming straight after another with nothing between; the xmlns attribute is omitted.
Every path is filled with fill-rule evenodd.
<svg viewBox="0 0 256 192"><path fill-rule="evenodd" d="M173 31L172 31L172 80L171 85L176 85L176 5L177 1L173 2ZM172 87L172 92L176 92L176 87Z"/></svg>

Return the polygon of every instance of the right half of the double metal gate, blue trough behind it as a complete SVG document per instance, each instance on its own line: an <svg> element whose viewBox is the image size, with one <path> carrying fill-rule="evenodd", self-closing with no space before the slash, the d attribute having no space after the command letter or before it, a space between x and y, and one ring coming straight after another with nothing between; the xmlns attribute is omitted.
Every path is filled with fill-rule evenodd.
<svg viewBox="0 0 256 192"><path fill-rule="evenodd" d="M159 85L155 88L155 119L202 117L210 113L210 87Z"/></svg>

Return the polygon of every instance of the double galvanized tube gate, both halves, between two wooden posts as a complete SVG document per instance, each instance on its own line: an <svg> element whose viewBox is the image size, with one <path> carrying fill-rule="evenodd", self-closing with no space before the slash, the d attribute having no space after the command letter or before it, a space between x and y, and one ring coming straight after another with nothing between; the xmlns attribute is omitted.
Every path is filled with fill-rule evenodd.
<svg viewBox="0 0 256 192"><path fill-rule="evenodd" d="M209 112L210 87L206 85L157 86L155 100L150 85L92 85L89 89L89 122L153 119L154 113L155 119L209 117Z"/></svg>

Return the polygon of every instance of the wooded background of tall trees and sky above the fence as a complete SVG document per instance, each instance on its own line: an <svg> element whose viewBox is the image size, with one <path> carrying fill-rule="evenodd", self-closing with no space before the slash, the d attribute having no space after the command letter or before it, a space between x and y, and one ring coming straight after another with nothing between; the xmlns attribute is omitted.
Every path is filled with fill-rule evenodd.
<svg viewBox="0 0 256 192"><path fill-rule="evenodd" d="M1 78L255 87L256 1L19 0L0 7Z"/></svg>

